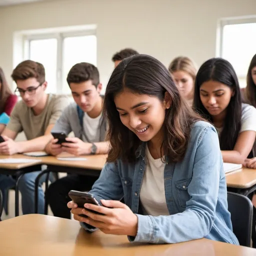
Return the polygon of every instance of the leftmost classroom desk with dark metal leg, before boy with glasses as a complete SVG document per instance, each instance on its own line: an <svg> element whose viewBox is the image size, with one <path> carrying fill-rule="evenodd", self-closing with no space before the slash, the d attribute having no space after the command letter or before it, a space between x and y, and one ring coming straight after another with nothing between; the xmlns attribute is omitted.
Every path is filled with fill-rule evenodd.
<svg viewBox="0 0 256 256"><path fill-rule="evenodd" d="M16 184L15 184L15 216L18 216L18 182L20 177L26 173L36 170L41 170L42 160L40 158L29 157L23 154L14 154L12 156L8 155L0 155L0 159L3 158L29 158L33 160L37 160L36 162L25 162L25 163L0 163L0 174L5 175L15 175Z"/></svg>

